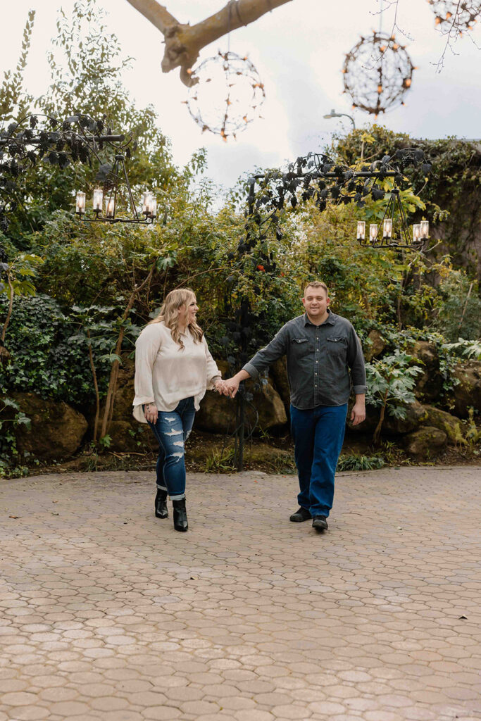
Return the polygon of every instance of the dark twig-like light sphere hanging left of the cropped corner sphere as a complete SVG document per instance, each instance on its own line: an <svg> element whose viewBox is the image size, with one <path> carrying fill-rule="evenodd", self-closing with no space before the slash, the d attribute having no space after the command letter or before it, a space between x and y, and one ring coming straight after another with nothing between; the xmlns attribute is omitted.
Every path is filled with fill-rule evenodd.
<svg viewBox="0 0 481 721"><path fill-rule="evenodd" d="M344 92L353 99L353 107L379 115L397 105L411 87L411 58L394 35L374 32L361 40L345 56Z"/></svg>

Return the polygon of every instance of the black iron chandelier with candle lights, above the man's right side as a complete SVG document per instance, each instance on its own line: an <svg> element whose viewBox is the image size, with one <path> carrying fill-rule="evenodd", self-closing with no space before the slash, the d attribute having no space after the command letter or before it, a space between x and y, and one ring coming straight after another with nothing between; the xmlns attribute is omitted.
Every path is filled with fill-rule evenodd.
<svg viewBox="0 0 481 721"><path fill-rule="evenodd" d="M398 216L400 227L394 226L394 216ZM394 187L382 216L381 223L370 223L366 235L366 221L358 221L358 242L370 248L410 248L422 250L429 239L429 221L422 220L412 226L410 236L407 217L400 198L400 190Z"/></svg>

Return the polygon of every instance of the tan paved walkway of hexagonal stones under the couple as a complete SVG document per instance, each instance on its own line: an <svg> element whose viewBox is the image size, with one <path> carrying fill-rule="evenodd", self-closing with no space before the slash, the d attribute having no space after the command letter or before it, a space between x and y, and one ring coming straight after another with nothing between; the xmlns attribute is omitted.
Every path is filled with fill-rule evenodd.
<svg viewBox="0 0 481 721"><path fill-rule="evenodd" d="M0 482L0 721L481 717L481 469L337 478L330 530L293 476ZM478 684L478 685L477 685Z"/></svg>

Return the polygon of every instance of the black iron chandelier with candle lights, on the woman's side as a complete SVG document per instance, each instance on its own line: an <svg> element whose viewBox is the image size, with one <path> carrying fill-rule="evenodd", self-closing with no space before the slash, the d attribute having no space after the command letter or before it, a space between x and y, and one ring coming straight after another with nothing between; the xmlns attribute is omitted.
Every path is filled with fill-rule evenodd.
<svg viewBox="0 0 481 721"><path fill-rule="evenodd" d="M131 216L120 217L115 215L117 209L118 186L125 182ZM105 205L105 209L104 209ZM92 199L93 217L86 215L86 195L81 190L76 194L76 215L84 223L135 223L138 225L151 225L157 216L157 200L153 193L146 192L142 198L141 210L137 210L133 200L131 184L128 181L125 168L125 156L121 153L115 155L115 162L107 174L103 187L94 188Z"/></svg>

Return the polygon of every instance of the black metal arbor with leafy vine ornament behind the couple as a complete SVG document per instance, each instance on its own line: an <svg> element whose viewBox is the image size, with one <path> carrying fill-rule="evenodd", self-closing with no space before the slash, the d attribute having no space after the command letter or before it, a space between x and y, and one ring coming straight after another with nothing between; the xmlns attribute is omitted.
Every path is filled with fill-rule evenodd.
<svg viewBox="0 0 481 721"><path fill-rule="evenodd" d="M393 237L391 233L390 242L384 242L384 239L382 242L381 239L374 243L361 242L361 239L358 238L359 242L362 246L377 249L383 247L423 249L426 237L419 242L417 235L413 232L412 240L410 240L407 218L402 209L402 203L400 203L400 189L407 183L405 172L410 166L421 166L425 174L431 170L431 164L425 159L423 151L407 148L395 151L392 156L385 155L381 160L370 165L361 165L360 168L336 163L325 154L309 153L291 163L286 172L270 170L264 174L252 176L247 183L246 234L237 247L238 257L244 257L256 249L256 258L261 263L261 265L257 265L257 268L262 269L262 272L275 271L273 254L268 250L262 250L262 242L267 239L269 230L273 231L276 239L282 238L279 220L286 207L296 208L301 203L311 200L321 212L325 210L328 202L335 204L353 202L362 208L366 198L381 200L387 195L389 198L381 225L384 229L384 221L389 219L388 213L394 216L394 205L398 205L400 208L400 233L397 237ZM388 193L381 187L382 182L387 178L391 178L394 184L391 192ZM426 228L426 226L424 227ZM249 358L252 327L255 324L258 325L257 317L251 311L248 298L240 299L239 306L234 310L234 317L232 335L237 338L238 357L242 367ZM247 404L244 383L239 386L236 399L234 462L237 470L242 471Z"/></svg>

